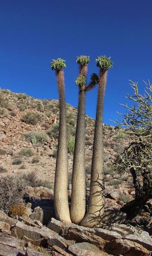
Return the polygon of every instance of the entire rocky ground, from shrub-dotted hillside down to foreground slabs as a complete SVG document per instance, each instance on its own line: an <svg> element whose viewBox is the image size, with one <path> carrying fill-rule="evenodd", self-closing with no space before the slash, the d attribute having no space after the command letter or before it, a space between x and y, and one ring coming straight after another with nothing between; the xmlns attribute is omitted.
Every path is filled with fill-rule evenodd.
<svg viewBox="0 0 152 256"><path fill-rule="evenodd" d="M66 107L70 203L77 109L69 104ZM95 120L86 116L85 121L88 199ZM120 174L113 164L117 154L130 143L119 126L103 126L106 191L103 224L89 229L51 219L55 217L53 188L58 128L58 100L35 99L0 89L0 209L10 216L0 211L0 253L3 252L0 255L133 256L137 253L148 256L152 250L149 236L152 221L148 210L152 201L132 220L131 224L140 232L129 226L126 214L119 211L135 195L130 172L125 170ZM25 204L22 204L21 191L24 191ZM121 224L124 222L127 225ZM138 235L141 232L145 233Z"/></svg>

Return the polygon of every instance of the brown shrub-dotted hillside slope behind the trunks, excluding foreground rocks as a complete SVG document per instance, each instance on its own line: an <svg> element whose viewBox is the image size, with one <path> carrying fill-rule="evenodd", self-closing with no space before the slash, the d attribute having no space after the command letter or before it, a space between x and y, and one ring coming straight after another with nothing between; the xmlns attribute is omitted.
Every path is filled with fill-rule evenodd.
<svg viewBox="0 0 152 256"><path fill-rule="evenodd" d="M77 109L67 106L68 137L76 131ZM54 123L57 117L56 123ZM95 120L86 116L86 179L89 187ZM58 100L41 100L26 94L0 90L0 173L35 172L47 186L54 186L59 122ZM129 143L118 126L104 124L104 173L106 188L133 188L129 173L119 175L112 162ZM69 151L73 151L69 149ZM69 184L73 152L69 152ZM43 183L44 184L44 183ZM128 196L127 191L125 194ZM127 198L125 199L127 200Z"/></svg>

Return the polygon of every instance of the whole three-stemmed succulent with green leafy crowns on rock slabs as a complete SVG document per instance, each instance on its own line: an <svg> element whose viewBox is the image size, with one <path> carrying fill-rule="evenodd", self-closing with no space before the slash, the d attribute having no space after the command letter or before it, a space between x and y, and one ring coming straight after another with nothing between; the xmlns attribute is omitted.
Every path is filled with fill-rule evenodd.
<svg viewBox="0 0 152 256"><path fill-rule="evenodd" d="M67 222L80 223L85 227L97 225L104 213L104 159L103 159L103 102L107 82L108 69L113 62L105 55L95 59L100 67L99 77L93 73L87 87L86 74L89 56L77 57L79 64L79 77L76 85L79 86L78 116L76 125L75 149L73 155L73 177L71 208L69 214L67 200L67 136L66 136L66 104L64 94L63 68L65 61L58 58L51 62L51 68L57 75L60 103L60 130L57 150L57 164L54 184L54 206L57 219ZM89 207L86 211L86 185L85 185L85 92L90 91L98 83L98 99L95 121L95 135L92 156L92 172L90 184ZM64 177L65 176L65 177ZM63 200L63 201L62 201ZM67 209L68 208L68 209ZM85 217L84 217L85 216ZM71 220L70 220L71 217Z"/></svg>

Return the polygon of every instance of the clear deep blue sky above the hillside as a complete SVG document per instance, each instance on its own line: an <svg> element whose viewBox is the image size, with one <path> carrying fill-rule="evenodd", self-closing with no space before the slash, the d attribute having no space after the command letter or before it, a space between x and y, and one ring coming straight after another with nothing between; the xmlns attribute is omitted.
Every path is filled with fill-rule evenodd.
<svg viewBox="0 0 152 256"><path fill-rule="evenodd" d="M0 87L41 99L58 99L49 63L66 60L66 102L77 106L76 56L89 55L88 81L98 74L95 58L111 56L104 97L104 123L119 118L119 103L152 81L152 1L0 0ZM86 114L95 118L97 88L86 95Z"/></svg>

